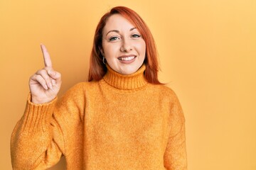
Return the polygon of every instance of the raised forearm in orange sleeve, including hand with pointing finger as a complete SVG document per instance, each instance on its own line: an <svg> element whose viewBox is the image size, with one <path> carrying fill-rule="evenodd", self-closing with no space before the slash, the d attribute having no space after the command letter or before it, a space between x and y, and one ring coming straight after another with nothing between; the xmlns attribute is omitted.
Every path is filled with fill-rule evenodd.
<svg viewBox="0 0 256 170"><path fill-rule="evenodd" d="M52 118L61 77L53 69L46 47L41 45L41 49L45 67L29 79L26 111L11 135L13 169L47 169L64 150L60 126Z"/></svg>

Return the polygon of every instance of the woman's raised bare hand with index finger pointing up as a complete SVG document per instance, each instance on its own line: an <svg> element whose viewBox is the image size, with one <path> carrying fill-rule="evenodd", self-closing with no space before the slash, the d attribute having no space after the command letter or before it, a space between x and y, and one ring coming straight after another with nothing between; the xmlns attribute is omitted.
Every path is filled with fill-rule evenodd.
<svg viewBox="0 0 256 170"><path fill-rule="evenodd" d="M48 103L52 101L60 91L61 75L55 72L50 60L50 55L45 45L41 45L45 67L38 70L29 79L31 101L33 103Z"/></svg>

